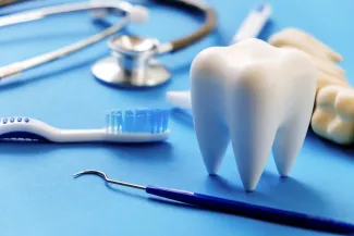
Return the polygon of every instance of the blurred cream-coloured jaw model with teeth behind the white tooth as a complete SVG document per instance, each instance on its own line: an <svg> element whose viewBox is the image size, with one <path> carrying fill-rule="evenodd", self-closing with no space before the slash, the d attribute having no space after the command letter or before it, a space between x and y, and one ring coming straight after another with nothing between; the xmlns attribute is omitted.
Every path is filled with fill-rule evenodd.
<svg viewBox="0 0 354 236"><path fill-rule="evenodd" d="M279 32L268 41L280 48L297 48L312 57L318 70L312 129L335 144L353 144L354 89L345 79L344 70L337 65L343 61L342 55L296 28Z"/></svg>

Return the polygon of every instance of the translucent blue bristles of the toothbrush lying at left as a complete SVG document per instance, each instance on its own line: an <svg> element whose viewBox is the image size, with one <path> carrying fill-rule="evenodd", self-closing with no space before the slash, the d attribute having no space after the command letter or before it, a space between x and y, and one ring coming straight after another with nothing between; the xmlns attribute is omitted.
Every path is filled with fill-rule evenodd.
<svg viewBox="0 0 354 236"><path fill-rule="evenodd" d="M112 111L106 116L106 131L111 134L157 134L168 131L169 110L138 109Z"/></svg>

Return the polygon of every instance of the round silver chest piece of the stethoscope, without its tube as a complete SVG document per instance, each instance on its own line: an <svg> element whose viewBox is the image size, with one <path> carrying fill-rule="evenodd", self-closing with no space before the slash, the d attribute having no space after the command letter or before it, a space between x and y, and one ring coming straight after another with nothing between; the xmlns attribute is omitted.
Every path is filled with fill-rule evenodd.
<svg viewBox="0 0 354 236"><path fill-rule="evenodd" d="M108 41L111 57L97 61L91 67L103 83L123 87L152 87L166 83L171 73L152 57L157 41L134 36L114 36Z"/></svg>

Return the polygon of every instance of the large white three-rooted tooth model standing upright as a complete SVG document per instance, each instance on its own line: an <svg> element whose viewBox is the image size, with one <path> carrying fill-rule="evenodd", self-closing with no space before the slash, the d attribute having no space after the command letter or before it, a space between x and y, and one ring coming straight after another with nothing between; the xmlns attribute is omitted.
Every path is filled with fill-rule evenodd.
<svg viewBox="0 0 354 236"><path fill-rule="evenodd" d="M199 52L191 66L191 99L208 173L217 173L231 140L247 191L271 150L279 174L288 176L309 125L316 76L306 53L259 39Z"/></svg>

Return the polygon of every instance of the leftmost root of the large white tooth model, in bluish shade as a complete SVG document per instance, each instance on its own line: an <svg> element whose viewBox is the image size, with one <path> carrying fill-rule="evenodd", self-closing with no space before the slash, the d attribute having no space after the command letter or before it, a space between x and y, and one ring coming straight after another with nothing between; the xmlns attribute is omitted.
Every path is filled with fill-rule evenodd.
<svg viewBox="0 0 354 236"><path fill-rule="evenodd" d="M213 70L220 69L221 65L209 65L208 58L204 58L203 52L198 58L206 63L192 63L192 112L204 164L207 172L213 175L217 174L230 144L229 127L222 113L224 97L222 92L217 92L222 90L223 85L212 77ZM200 64L202 67L198 67ZM213 95L210 95L210 91L215 91Z"/></svg>

